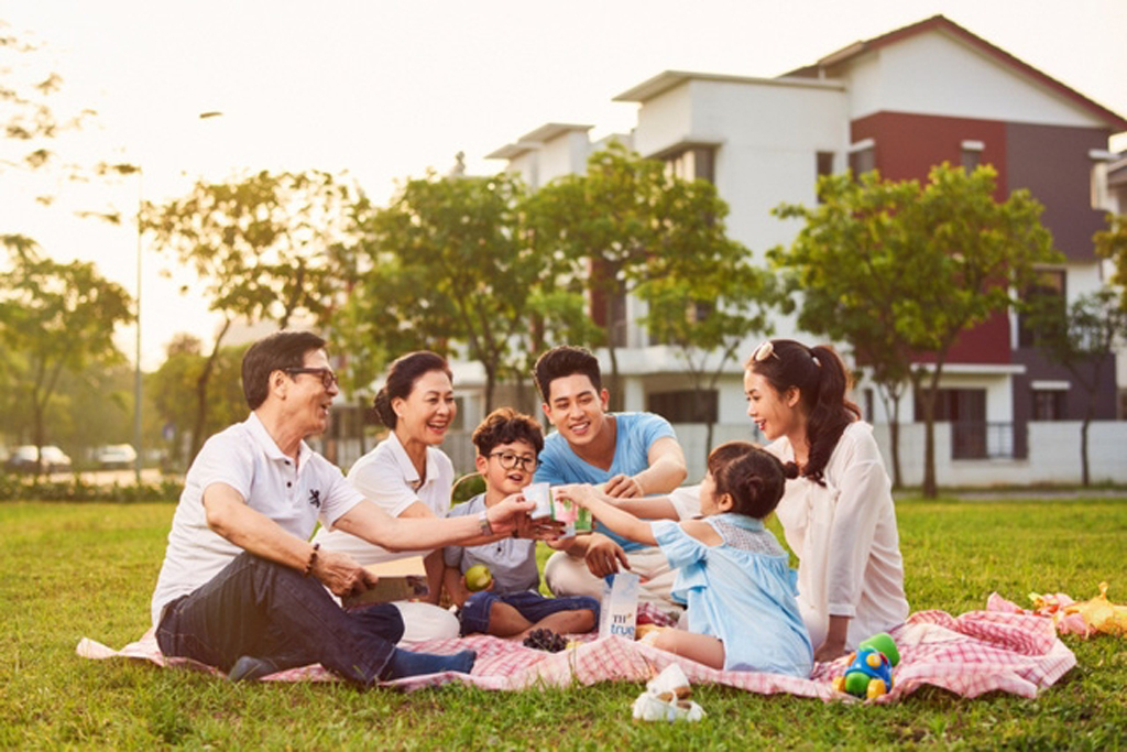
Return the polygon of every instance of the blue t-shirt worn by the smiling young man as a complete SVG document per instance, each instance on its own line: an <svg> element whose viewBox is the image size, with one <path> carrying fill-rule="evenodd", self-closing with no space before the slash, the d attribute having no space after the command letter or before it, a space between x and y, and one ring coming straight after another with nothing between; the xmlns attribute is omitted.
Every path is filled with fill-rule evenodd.
<svg viewBox="0 0 1127 752"><path fill-rule="evenodd" d="M614 460L610 469L588 465L571 451L567 440L553 431L544 440L544 449L540 452L540 465L536 467L535 481L552 486L570 483L598 485L606 483L616 475L638 475L649 467L649 448L658 439L669 436L676 439L669 422L653 413L607 413L614 417L618 433L614 437ZM627 551L646 548L645 545L627 540L612 533L596 523L595 530L612 538Z"/></svg>

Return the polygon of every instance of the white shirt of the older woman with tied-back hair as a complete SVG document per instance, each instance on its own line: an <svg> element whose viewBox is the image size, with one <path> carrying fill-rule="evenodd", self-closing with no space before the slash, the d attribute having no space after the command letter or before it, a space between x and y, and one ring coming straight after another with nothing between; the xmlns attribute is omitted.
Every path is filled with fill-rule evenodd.
<svg viewBox="0 0 1127 752"><path fill-rule="evenodd" d="M454 465L442 450L427 446L426 480L420 481L418 471L407 457L407 450L392 431L375 449L356 460L348 471L348 483L393 517L398 517L415 502L423 502L436 517L444 517L450 512ZM328 550L347 554L364 566L431 552L389 551L352 533L325 528L317 532L313 541Z"/></svg>

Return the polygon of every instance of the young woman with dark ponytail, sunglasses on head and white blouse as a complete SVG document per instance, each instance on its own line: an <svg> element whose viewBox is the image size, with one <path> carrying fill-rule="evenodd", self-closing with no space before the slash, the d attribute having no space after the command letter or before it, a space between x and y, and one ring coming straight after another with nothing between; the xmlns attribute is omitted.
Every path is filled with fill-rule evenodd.
<svg viewBox="0 0 1127 752"><path fill-rule="evenodd" d="M799 608L817 661L907 618L891 483L831 347L769 339L745 365L747 415L797 466L777 514L798 555Z"/></svg>

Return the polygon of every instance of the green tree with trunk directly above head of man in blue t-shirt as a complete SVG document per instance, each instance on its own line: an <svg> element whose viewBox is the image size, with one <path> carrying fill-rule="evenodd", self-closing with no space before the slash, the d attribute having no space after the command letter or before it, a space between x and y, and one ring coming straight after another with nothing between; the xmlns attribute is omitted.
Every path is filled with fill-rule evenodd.
<svg viewBox="0 0 1127 752"><path fill-rule="evenodd" d="M569 260L584 278L595 318L604 325L611 391L619 402L613 328L624 324L627 295L656 278L692 282L716 267L731 267L737 247L725 235L728 207L716 186L684 180L654 159L612 142L593 153L584 175L567 175L529 202L535 247Z"/></svg>

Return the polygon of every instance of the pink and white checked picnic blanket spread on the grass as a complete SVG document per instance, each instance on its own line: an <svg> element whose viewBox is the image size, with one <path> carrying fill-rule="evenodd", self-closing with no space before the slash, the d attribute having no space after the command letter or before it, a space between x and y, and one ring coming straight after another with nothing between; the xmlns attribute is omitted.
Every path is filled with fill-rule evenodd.
<svg viewBox="0 0 1127 752"><path fill-rule="evenodd" d="M997 608L992 609L992 603ZM1005 603L1008 601L995 593L983 611L970 611L959 617L943 611L913 613L891 632L900 653L893 690L869 701L894 702L929 684L962 697L1002 691L1033 698L1039 690L1054 684L1076 664L1075 655L1057 637L1051 619L1015 613L1005 609ZM522 690L567 687L576 682L644 682L671 663L678 663L694 684L725 684L760 695L786 692L823 700L853 700L832 687L833 678L844 673L848 666L845 657L815 664L809 679L799 679L760 672L718 671L621 637L595 639L587 635L575 636L574 639L575 643L561 653L545 653L486 635L426 640L411 647L440 654L465 648L477 651L478 661L472 673L410 676L381 682L381 685L415 690L461 682L482 689ZM82 638L77 652L86 658L135 658L161 666L186 666L221 673L187 658L163 657L152 630L121 651ZM265 681L338 680L320 665L314 665L283 671Z"/></svg>

